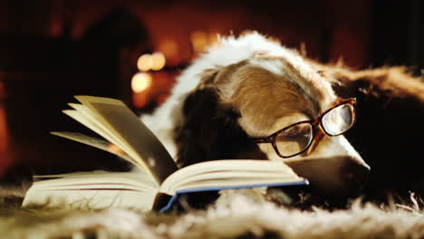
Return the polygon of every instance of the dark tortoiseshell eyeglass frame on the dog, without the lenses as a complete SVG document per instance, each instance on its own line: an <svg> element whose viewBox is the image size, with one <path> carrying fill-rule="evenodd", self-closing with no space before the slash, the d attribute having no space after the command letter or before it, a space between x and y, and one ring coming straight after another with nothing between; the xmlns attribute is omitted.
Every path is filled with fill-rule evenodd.
<svg viewBox="0 0 424 239"><path fill-rule="evenodd" d="M287 126L287 127L284 127L283 129L280 129L280 130L276 131L275 133L273 133L273 134L271 134L271 135L269 135L269 136L266 136L266 137L260 137L260 138L259 138L259 137L249 137L249 138L250 138L250 139L253 139L253 140L254 140L254 142L255 142L255 143L258 143L258 144L262 144L262 143L270 143L270 144L273 146L273 148L274 148L274 150L275 150L275 153L276 153L276 154L277 154L280 158L292 158L292 157L294 157L294 156L297 156L297 155L302 154L304 151L306 151L306 149L308 149L309 147L311 147L311 145L312 145L312 143L313 143L313 139L315 138L315 136L314 136L314 134L313 134L314 130L312 130L312 133L311 133L311 140L310 140L310 142L308 143L308 145L307 145L304 149L302 149L302 151L300 151L300 152L298 152L298 153L295 153L294 155L290 155L290 156L284 156L284 155L282 155L282 154L280 153L280 151L278 150L277 146L276 146L276 141L275 141L275 139L277 138L277 136L278 136L281 132L283 132L283 131L285 131L285 130L287 130L287 129L289 129L289 128L292 128L292 127L294 127L294 126L296 126L296 125L300 125L300 124L308 123L308 124L310 124L310 125L311 125L312 129L315 129L315 127L316 127L317 125L319 125L319 126L321 127L321 129L323 129L323 131L325 132L325 134L327 134L328 136L339 136L339 135L342 135L342 134L344 134L347 130L351 129L351 128L352 128L352 126L355 124L355 120L356 120L356 103L357 103L357 102L356 102L356 98L339 99L339 100L336 100L336 101L334 102L334 105L333 105L330 109L323 111L323 113L321 113L321 114L320 114L320 116L318 116L316 119L299 121L299 122L297 122L297 123L294 123L294 124L291 124L291 125L289 125L289 126ZM349 127L348 129L346 129L346 130L342 131L342 133L339 133L339 134L331 134L331 133L327 132L327 130L325 129L325 127L323 127L323 116L324 116L326 113L328 113L329 111L334 110L335 108L337 108L337 107L339 107L339 106L341 106L341 105L343 105L343 104L350 104L350 105L352 106L352 124L350 125L350 127Z"/></svg>

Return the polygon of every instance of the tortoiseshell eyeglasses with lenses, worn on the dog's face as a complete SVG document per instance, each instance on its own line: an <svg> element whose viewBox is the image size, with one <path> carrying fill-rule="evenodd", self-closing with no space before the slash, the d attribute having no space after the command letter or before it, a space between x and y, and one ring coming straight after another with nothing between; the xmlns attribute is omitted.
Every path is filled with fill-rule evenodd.
<svg viewBox="0 0 424 239"><path fill-rule="evenodd" d="M328 136L342 135L351 129L356 118L356 99L337 100L334 106L325 110L318 118L304 120L280 129L255 143L271 143L280 158L291 158L303 153L313 142L313 128L320 125Z"/></svg>

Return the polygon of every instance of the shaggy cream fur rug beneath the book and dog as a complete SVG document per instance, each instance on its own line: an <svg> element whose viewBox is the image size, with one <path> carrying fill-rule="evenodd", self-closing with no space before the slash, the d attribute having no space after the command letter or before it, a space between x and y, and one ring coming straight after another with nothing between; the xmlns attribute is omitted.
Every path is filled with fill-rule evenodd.
<svg viewBox="0 0 424 239"><path fill-rule="evenodd" d="M424 238L422 202L414 196L410 206L377 206L358 199L349 209L330 212L233 194L221 196L206 210L167 215L22 208L22 198L2 198L2 238Z"/></svg>

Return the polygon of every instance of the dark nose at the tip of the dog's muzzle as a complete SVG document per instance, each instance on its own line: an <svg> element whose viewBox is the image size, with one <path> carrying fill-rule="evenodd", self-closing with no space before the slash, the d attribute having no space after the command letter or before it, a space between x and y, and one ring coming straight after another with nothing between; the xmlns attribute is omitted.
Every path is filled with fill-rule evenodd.
<svg viewBox="0 0 424 239"><path fill-rule="evenodd" d="M360 190L368 180L371 167L364 162L357 162L352 159L345 160L342 167L342 180L348 184L353 191Z"/></svg>

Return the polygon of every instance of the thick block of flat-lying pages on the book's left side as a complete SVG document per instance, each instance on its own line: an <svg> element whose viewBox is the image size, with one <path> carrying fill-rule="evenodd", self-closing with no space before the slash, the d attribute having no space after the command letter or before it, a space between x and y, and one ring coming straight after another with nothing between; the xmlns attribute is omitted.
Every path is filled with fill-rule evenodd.
<svg viewBox="0 0 424 239"><path fill-rule="evenodd" d="M49 178L54 179L49 179ZM135 207L149 211L158 193L152 178L133 172L78 172L35 177L23 206L72 209ZM41 180L48 179L48 180Z"/></svg>

